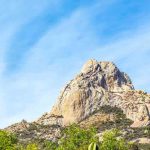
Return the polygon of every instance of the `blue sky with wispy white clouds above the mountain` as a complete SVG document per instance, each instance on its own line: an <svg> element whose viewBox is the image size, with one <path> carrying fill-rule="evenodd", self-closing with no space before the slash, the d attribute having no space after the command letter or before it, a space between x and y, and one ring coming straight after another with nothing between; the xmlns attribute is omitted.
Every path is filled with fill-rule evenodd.
<svg viewBox="0 0 150 150"><path fill-rule="evenodd" d="M90 58L150 92L149 0L0 0L0 127L50 111Z"/></svg>

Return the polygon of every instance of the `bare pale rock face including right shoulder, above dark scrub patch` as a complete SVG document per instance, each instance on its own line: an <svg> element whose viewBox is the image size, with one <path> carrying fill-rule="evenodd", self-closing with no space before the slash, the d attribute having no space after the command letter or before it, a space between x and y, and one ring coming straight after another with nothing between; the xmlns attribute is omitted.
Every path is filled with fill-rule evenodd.
<svg viewBox="0 0 150 150"><path fill-rule="evenodd" d="M49 115L62 116L63 125L68 125L105 105L121 108L134 127L149 124L150 96L135 91L127 74L112 62L96 60L89 60L66 85Z"/></svg>

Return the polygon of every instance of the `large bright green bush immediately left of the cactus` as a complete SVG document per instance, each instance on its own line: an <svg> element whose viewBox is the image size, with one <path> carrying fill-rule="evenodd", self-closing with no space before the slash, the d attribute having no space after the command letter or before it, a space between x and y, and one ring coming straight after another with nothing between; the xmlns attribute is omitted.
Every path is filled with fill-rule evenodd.
<svg viewBox="0 0 150 150"><path fill-rule="evenodd" d="M88 149L91 142L98 142L95 128L81 129L73 124L64 129L57 150L79 150Z"/></svg>

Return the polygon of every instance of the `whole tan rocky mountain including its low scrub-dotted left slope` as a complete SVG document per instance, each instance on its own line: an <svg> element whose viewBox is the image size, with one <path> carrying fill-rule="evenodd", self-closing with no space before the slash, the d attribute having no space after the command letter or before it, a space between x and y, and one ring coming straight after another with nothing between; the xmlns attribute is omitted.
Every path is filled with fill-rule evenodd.
<svg viewBox="0 0 150 150"><path fill-rule="evenodd" d="M118 110L123 117L118 118ZM32 123L22 121L6 130L16 132L22 140L37 136L55 140L61 128L69 124L104 127L111 122L110 128L118 119L121 123L130 120L126 126L129 132L149 126L150 95L135 90L129 76L114 63L88 60L64 87L50 112Z"/></svg>

